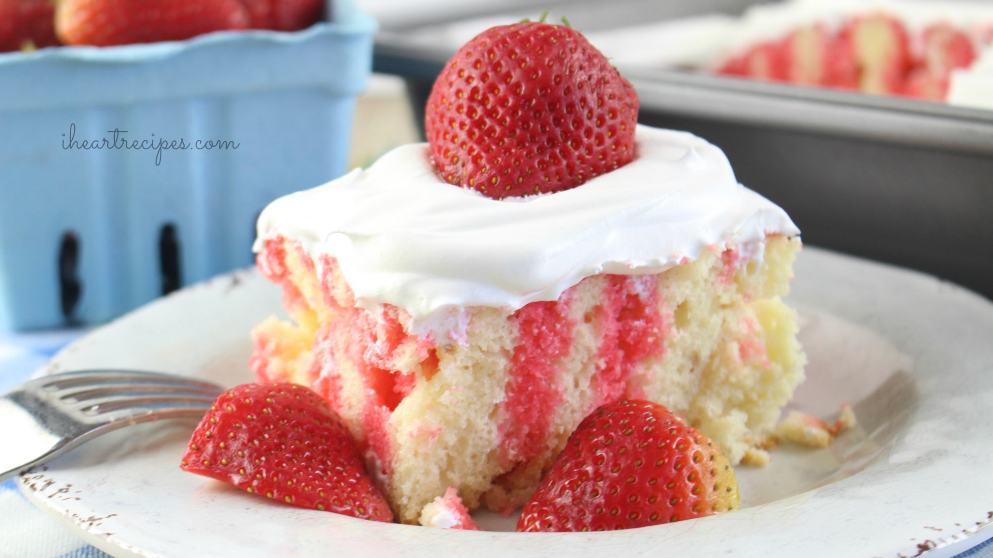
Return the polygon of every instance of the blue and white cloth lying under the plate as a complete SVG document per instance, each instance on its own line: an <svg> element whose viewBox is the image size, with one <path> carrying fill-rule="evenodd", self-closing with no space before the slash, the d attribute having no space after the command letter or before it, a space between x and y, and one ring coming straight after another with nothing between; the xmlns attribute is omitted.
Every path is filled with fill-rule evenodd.
<svg viewBox="0 0 993 558"><path fill-rule="evenodd" d="M0 334L0 393L27 380L79 331ZM0 484L0 558L110 558L84 543L28 501L15 481ZM993 558L993 539L955 558Z"/></svg>

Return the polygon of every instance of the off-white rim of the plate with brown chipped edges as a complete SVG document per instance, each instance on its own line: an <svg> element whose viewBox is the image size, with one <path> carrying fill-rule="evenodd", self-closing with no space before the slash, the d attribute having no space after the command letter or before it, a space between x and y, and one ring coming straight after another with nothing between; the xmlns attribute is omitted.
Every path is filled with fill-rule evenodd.
<svg viewBox="0 0 993 558"><path fill-rule="evenodd" d="M227 515L209 506L184 509L174 521L148 526L141 522L147 501L133 493L129 497L127 487L107 485L105 479L94 486L124 490L113 513L92 509L81 499L53 497L61 479L95 481L100 473L93 469L29 473L19 487L86 542L118 557L222 554L232 544L243 556L269 556L285 552L290 540L298 556L374 550L543 556L554 546L577 557L624 549L684 556L942 558L993 536L993 475L988 474L993 421L987 418L993 408L993 303L919 272L809 246L795 272L791 302L868 327L910 354L920 395L905 431L884 458L853 477L777 501L605 533L442 532L271 505L245 506L251 520L239 515L237 524L224 524ZM41 373L93 365L86 358L100 354L118 357L124 365L128 358L147 360L149 354L132 346L153 334L187 343L193 339L189 358L203 363L211 356L211 344L245 336L260 309L271 313L276 308L278 292L257 273L220 276L94 331L60 352ZM200 337L205 332L213 337ZM158 350L168 349L168 341L157 338ZM204 521L227 531L219 538L205 534L198 523ZM255 541L257 531L277 533L278 540Z"/></svg>

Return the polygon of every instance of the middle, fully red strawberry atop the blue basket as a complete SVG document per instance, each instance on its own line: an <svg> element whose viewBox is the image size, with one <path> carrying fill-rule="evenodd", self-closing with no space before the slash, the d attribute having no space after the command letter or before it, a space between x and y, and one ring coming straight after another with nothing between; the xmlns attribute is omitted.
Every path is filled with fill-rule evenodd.
<svg viewBox="0 0 993 558"><path fill-rule="evenodd" d="M248 23L239 0L62 0L56 9L56 31L67 45L182 41Z"/></svg>

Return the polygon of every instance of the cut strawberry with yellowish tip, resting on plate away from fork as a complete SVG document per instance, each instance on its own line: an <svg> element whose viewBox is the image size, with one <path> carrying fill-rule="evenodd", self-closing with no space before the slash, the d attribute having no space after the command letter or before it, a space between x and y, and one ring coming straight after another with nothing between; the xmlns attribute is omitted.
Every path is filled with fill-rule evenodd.
<svg viewBox="0 0 993 558"><path fill-rule="evenodd" d="M586 417L524 506L518 531L601 531L740 505L734 470L705 436L650 401Z"/></svg>

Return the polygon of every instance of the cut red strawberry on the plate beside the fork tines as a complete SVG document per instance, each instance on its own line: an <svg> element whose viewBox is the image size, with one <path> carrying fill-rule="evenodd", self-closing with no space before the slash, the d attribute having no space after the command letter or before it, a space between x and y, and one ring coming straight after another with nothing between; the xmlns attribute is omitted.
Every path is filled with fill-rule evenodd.
<svg viewBox="0 0 993 558"><path fill-rule="evenodd" d="M194 431L181 468L301 507L393 520L342 419L294 383L222 393Z"/></svg>

